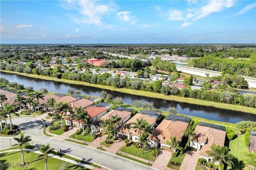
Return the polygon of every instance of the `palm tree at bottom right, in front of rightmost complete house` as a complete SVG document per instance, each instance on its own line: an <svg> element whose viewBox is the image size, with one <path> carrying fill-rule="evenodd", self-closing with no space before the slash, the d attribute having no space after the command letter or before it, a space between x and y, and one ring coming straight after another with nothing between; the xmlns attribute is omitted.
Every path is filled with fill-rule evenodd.
<svg viewBox="0 0 256 170"><path fill-rule="evenodd" d="M227 146L212 144L210 148L211 150L207 150L206 154L208 154L209 157L212 157L212 160L214 162L218 161L219 170L220 170L221 164L223 163L227 164L228 166L234 166L234 162L232 161L232 159L234 159L234 156L228 153L229 149ZM216 164L216 168L217 168L217 164Z"/></svg>

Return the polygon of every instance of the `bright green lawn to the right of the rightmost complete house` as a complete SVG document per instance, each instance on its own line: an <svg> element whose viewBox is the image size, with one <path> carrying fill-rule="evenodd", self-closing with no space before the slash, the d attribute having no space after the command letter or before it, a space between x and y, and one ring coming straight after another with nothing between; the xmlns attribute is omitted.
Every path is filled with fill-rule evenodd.
<svg viewBox="0 0 256 170"><path fill-rule="evenodd" d="M234 140L230 140L229 142L229 149L230 149L230 154L234 155L237 160L234 162L235 167L232 169L242 169L244 168L244 163L243 163L243 158L242 152L249 152L248 148L244 144L244 134L243 135L238 135L237 138ZM231 167L228 167L228 169L231 169Z"/></svg>

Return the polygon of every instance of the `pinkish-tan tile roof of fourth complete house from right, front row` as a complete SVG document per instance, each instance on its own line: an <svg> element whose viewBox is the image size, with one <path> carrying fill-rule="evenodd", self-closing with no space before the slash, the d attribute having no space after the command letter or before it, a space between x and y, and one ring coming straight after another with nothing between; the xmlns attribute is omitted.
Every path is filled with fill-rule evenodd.
<svg viewBox="0 0 256 170"><path fill-rule="evenodd" d="M97 121L95 121L93 123L93 125L98 125L100 123L102 123L102 121L104 119L110 119L111 115L112 116L116 116L118 115L117 117L118 118L121 118L120 122L122 122L126 117L128 117L129 115L131 115L132 113L131 112L128 112L128 111L116 111L116 110L112 110L110 112L108 112L106 115L102 116L100 119L98 119Z"/></svg>

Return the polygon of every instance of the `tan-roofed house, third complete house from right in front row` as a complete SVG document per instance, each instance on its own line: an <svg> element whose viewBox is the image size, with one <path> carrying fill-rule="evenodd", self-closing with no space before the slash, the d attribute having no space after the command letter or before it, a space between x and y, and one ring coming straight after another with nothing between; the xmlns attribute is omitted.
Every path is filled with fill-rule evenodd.
<svg viewBox="0 0 256 170"><path fill-rule="evenodd" d="M147 115L142 115L137 113L134 115L129 121L127 121L120 129L118 130L118 137L129 139L135 142L138 142L139 139L139 132L137 128L132 128L132 123L136 122L136 119L144 119L146 120L150 126L150 129L153 129L156 125L156 118L149 117ZM143 131L140 131L142 133Z"/></svg>

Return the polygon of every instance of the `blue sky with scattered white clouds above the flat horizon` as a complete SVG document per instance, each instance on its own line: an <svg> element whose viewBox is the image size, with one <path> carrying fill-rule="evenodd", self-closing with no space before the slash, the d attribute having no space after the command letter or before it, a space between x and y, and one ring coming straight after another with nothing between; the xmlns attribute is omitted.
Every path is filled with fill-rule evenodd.
<svg viewBox="0 0 256 170"><path fill-rule="evenodd" d="M0 1L1 43L256 43L256 2Z"/></svg>

